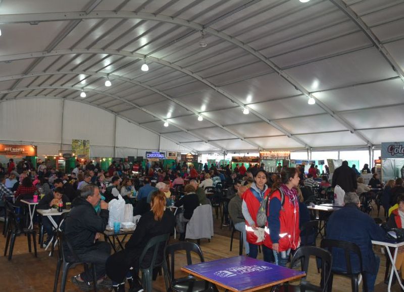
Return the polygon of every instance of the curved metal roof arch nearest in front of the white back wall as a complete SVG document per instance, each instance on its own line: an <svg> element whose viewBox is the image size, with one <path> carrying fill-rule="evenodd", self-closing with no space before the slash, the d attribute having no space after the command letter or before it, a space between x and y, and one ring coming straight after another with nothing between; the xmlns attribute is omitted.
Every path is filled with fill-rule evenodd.
<svg viewBox="0 0 404 292"><path fill-rule="evenodd" d="M11 93L11 92L24 91L24 90L36 90L36 89L67 89L67 90L82 91L82 88L70 87L70 86L37 86L37 87L22 87L22 88L16 88L16 89L13 89L13 90L2 90L2 91L0 91L0 94L7 94L7 93ZM142 106L137 105L136 103L133 103L133 102L131 102L129 100L126 100L126 99L124 99L122 97L119 97L117 95L109 94L109 93L106 93L104 91L99 91L99 90L95 90L95 89L86 89L86 91L87 92L93 92L93 93L100 94L100 95L105 95L105 96L120 100L122 102L125 102L125 103L127 103L129 105L132 105L132 106L136 107L137 109L140 109L140 110L154 116L155 118L161 120L162 122L165 122L167 120L163 116L161 116L161 115L159 115L157 113L154 113L154 112L152 112L152 111L150 111L150 110L148 110L148 109L146 109L146 108L144 108ZM196 135L196 134L192 133L191 131L181 127L180 125L178 125L178 124L176 124L176 123L174 123L172 121L170 121L170 122L176 128L178 128L178 129L180 129L180 130L182 130L182 131L184 131L184 132L186 132L186 133L188 133L188 134L190 134L190 135L192 135L192 136L194 136L194 137L196 137L196 138L198 138L200 140L203 140L205 143L209 143L209 144L211 144L212 146L214 146L216 148L225 150L220 145L217 145L215 143L209 142L206 138L203 138L203 137L201 137L199 135ZM160 135L160 133L159 133L159 135Z"/></svg>

